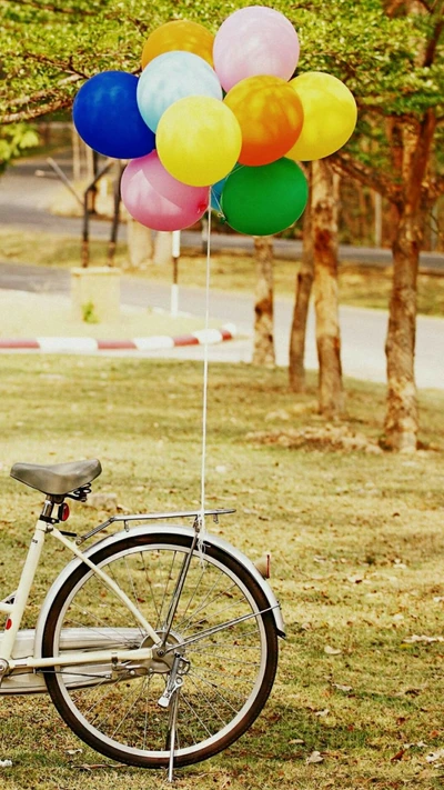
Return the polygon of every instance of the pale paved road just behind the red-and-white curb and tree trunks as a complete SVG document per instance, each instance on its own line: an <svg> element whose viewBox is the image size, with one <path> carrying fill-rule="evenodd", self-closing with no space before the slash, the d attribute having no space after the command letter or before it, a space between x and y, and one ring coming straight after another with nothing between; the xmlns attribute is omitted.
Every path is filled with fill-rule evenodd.
<svg viewBox="0 0 444 790"><path fill-rule="evenodd" d="M41 291L62 293L70 290L70 274L60 269L32 266L0 264L0 288L13 290ZM182 311L203 316L204 294L198 288L180 289L180 309ZM137 307L153 307L162 310L170 308L170 287L161 283L150 283L142 278L122 278L122 302ZM239 333L245 336L240 340L222 343L211 348L210 359L225 362L249 362L252 354L252 327L254 320L253 299L246 296L234 296L213 291L211 293L210 312L220 318L221 323L232 322ZM342 363L345 376L364 380L384 382L387 314L382 310L363 310L360 308L341 308ZM275 302L275 348L278 363L289 362L289 338L292 319L290 299L278 299ZM314 316L309 317L306 341L306 367L317 368ZM169 357L183 359L201 359L202 347L172 349ZM165 357L167 352L152 352L153 357ZM416 381L420 388L444 389L444 320L438 318L418 317L416 340Z"/></svg>

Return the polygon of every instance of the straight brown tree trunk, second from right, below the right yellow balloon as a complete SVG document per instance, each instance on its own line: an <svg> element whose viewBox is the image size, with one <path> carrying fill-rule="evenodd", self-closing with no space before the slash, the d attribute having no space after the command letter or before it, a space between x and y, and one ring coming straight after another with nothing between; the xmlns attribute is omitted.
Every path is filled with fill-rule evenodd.
<svg viewBox="0 0 444 790"><path fill-rule="evenodd" d="M337 308L337 177L321 159L312 170L314 306L320 366L320 411L339 417L344 408Z"/></svg>

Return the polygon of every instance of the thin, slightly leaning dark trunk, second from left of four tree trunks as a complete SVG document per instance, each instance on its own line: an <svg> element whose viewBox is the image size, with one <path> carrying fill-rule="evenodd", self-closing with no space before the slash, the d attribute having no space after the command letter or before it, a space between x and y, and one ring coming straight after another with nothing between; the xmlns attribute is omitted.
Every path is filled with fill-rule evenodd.
<svg viewBox="0 0 444 790"><path fill-rule="evenodd" d="M309 182L311 178L309 179ZM311 193L311 187L310 187ZM304 213L301 267L296 274L293 322L290 334L289 379L293 392L305 390L305 334L309 316L310 294L313 286L313 233L311 200Z"/></svg>

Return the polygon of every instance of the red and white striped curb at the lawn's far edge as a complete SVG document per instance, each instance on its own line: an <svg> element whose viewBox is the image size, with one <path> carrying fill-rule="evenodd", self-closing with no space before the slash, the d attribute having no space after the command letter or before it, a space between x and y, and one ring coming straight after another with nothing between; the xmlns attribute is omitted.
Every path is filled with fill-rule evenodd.
<svg viewBox="0 0 444 790"><path fill-rule="evenodd" d="M0 351L42 351L43 353L91 353L94 351L160 351L181 346L214 346L232 340L236 328L226 323L221 329L200 329L171 338L159 334L131 340L95 340L94 338L0 338Z"/></svg>

